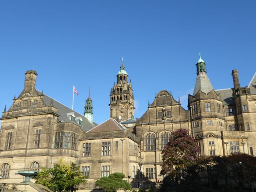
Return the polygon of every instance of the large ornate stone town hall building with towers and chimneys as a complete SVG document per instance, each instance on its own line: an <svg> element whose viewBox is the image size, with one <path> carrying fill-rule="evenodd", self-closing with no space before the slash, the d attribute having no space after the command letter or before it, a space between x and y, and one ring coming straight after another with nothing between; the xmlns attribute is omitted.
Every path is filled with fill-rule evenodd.
<svg viewBox="0 0 256 192"><path fill-rule="evenodd" d="M50 168L59 159L78 164L89 180L123 172L135 181L140 173L158 181L161 151L172 131L180 128L197 139L201 155L254 155L256 74L241 87L238 71L233 70L233 88L214 90L201 57L196 69L188 110L162 90L135 120L132 84L122 61L110 91L110 118L99 125L93 122L90 94L84 114L79 114L35 89L37 72L26 71L23 91L1 117L1 182L21 182L19 170Z"/></svg>

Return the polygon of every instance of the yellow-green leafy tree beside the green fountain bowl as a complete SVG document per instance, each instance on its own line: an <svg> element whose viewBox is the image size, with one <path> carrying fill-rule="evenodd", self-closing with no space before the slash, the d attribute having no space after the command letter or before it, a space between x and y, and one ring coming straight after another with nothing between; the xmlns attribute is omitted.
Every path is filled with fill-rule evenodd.
<svg viewBox="0 0 256 192"><path fill-rule="evenodd" d="M36 176L33 177L35 183L41 183L52 191L76 191L75 186L87 182L79 171L79 166L74 163L59 162L54 164L53 168L42 168Z"/></svg>

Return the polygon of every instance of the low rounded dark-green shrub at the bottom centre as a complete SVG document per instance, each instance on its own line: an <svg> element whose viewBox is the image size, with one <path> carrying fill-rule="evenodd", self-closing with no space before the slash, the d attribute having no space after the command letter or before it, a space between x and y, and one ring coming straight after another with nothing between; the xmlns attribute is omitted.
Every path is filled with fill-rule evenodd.
<svg viewBox="0 0 256 192"><path fill-rule="evenodd" d="M131 190L132 186L126 181L123 173L113 173L108 177L101 177L96 181L96 185L104 192L116 192L117 189Z"/></svg>

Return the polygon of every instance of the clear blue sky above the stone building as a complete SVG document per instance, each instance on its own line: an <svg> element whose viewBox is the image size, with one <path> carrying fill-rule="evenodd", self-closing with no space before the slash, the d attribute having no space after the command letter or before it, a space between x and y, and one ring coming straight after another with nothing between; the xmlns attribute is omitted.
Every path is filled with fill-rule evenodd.
<svg viewBox="0 0 256 192"><path fill-rule="evenodd" d="M256 1L0 1L0 109L23 89L35 67L36 88L83 113L91 86L94 120L109 118L109 94L121 57L135 98L135 117L155 93L172 91L187 109L199 52L214 89L241 86L256 71Z"/></svg>

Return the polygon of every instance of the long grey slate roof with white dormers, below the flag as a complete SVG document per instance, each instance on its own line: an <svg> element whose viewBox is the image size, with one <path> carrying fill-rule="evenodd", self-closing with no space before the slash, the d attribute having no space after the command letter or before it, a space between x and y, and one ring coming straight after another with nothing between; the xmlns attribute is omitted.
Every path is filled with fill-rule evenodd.
<svg viewBox="0 0 256 192"><path fill-rule="evenodd" d="M40 91L37 90L38 94L41 94ZM50 102L51 102L52 98L50 98L48 95L44 94L43 97L43 101L45 103L46 106L50 106ZM56 101L55 99L53 99L53 106L55 108L58 109L58 114L59 117L57 118L59 121L61 122L67 122L67 123L74 123L76 125L79 125L77 122L71 121L67 115L70 114L72 115L73 113L75 114L76 118L77 117L81 117L82 121L83 121L83 125L79 125L80 127L82 127L83 131L89 131L90 129L94 128L96 125L98 125L97 123L94 123L94 125L92 125L86 117L84 117L82 114L68 108L67 106L63 105L62 103L60 103L59 101Z"/></svg>

